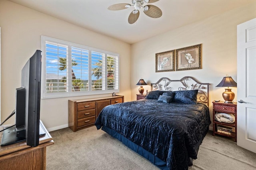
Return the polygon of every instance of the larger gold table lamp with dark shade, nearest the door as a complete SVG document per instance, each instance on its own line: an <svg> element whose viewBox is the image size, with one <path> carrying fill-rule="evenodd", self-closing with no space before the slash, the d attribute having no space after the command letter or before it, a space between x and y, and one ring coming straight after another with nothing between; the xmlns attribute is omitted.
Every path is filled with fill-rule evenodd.
<svg viewBox="0 0 256 170"><path fill-rule="evenodd" d="M233 103L235 93L233 93L229 87L236 87L236 82L232 77L226 75L226 77L223 77L222 81L216 87L228 87L222 93L222 97L225 100L225 103Z"/></svg>

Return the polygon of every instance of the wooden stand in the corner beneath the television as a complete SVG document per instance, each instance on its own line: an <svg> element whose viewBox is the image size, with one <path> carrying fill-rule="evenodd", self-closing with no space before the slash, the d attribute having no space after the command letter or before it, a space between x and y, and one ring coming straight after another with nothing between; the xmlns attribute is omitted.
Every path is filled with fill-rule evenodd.
<svg viewBox="0 0 256 170"><path fill-rule="evenodd" d="M26 141L0 146L0 170L46 169L46 146L54 144L54 141L41 121L40 126L46 135L39 138L38 146L28 146ZM2 132L0 133L0 140L1 138Z"/></svg>

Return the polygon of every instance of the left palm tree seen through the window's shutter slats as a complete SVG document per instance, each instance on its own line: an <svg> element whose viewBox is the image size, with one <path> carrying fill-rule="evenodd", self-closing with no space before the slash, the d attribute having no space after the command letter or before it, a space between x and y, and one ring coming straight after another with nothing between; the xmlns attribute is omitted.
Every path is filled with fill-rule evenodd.
<svg viewBox="0 0 256 170"><path fill-rule="evenodd" d="M75 65L78 65L76 61L74 61L73 59L71 60L71 62L72 62L72 67ZM60 70L63 71L67 69L67 58L59 57L59 63L60 63L60 67L59 67ZM73 69L71 71L72 71L72 86L74 87L74 91L80 91L80 89L84 87L84 84L82 83L81 79L76 79L76 75Z"/></svg>

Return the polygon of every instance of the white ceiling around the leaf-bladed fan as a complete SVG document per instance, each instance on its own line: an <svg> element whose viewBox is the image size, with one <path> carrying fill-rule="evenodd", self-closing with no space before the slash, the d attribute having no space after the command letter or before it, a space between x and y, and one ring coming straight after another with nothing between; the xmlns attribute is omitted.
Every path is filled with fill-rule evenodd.
<svg viewBox="0 0 256 170"><path fill-rule="evenodd" d="M132 0L10 1L94 32L127 43L135 43L255 0L159 0L151 5L158 6L162 10L162 17L150 18L141 9L140 16L134 24L128 24L128 16L133 8L118 11L107 9L112 4L131 4Z"/></svg>

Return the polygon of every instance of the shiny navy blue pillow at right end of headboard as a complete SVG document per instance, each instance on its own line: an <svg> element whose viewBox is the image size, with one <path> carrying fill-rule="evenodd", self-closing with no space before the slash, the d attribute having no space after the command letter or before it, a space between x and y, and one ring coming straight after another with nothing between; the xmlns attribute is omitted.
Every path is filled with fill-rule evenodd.
<svg viewBox="0 0 256 170"><path fill-rule="evenodd" d="M198 90L173 91L175 94L172 102L196 104Z"/></svg>

